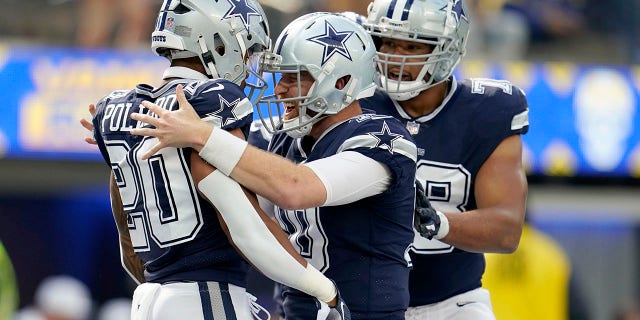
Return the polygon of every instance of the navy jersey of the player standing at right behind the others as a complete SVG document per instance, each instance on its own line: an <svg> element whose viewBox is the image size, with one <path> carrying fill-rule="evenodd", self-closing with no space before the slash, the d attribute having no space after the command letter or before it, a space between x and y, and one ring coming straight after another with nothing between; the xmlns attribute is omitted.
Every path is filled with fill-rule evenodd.
<svg viewBox="0 0 640 320"><path fill-rule="evenodd" d="M469 79L429 115L413 118L382 92L361 101L363 108L400 119L418 146L417 179L434 208L464 212L477 208L478 170L505 138L524 134L528 105L523 92L507 81ZM416 233L411 258L411 306L442 301L481 286L484 256Z"/></svg>

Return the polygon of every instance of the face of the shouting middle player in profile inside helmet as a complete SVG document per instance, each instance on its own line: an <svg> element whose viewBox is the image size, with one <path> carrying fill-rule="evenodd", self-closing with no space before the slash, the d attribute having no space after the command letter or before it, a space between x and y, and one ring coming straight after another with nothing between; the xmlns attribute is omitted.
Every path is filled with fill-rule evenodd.
<svg viewBox="0 0 640 320"><path fill-rule="evenodd" d="M298 81L299 80L299 81ZM308 72L301 72L300 78L296 73L283 73L280 81L274 88L278 99L298 98L284 103L284 120L298 116L299 105L302 97L306 96L315 80ZM298 86L300 84L300 86Z"/></svg>

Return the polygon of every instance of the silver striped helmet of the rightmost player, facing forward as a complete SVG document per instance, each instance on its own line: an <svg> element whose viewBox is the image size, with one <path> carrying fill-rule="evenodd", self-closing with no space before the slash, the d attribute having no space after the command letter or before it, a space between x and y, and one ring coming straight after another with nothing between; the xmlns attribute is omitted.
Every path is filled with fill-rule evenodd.
<svg viewBox="0 0 640 320"><path fill-rule="evenodd" d="M395 100L409 100L446 80L465 54L469 19L463 0L374 0L363 26L376 41L391 38L433 47L429 54L399 55L378 52L382 88ZM401 81L407 66L422 66L411 81Z"/></svg>

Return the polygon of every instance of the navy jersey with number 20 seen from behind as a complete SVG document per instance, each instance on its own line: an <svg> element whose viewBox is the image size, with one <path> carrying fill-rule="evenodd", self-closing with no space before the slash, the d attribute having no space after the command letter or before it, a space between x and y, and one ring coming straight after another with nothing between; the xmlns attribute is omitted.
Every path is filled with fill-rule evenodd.
<svg viewBox="0 0 640 320"><path fill-rule="evenodd" d="M149 112L142 101L178 108L176 86L203 120L226 130L248 132L253 107L237 85L226 80L174 80L154 89L138 85L115 91L96 106L94 136L115 176L136 254L149 282L220 281L246 286L247 264L227 240L211 204L199 196L190 172L190 148L164 148L148 160L140 156L158 141L131 135L144 123L133 112Z"/></svg>

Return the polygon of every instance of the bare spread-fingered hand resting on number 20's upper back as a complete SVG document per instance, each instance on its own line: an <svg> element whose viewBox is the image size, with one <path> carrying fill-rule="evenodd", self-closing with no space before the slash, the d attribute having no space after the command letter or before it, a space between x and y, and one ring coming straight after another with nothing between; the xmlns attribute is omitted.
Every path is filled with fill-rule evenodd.
<svg viewBox="0 0 640 320"><path fill-rule="evenodd" d="M165 110L149 101L143 101L142 105L149 109L149 114L131 114L131 119L152 126L132 129L131 134L158 139L158 143L142 156L143 160L166 147L191 147L199 150L209 138L209 134L213 130L212 126L200 119L193 106L187 101L182 85L176 87L176 97L179 107L174 111ZM151 116L150 113L154 113L156 116Z"/></svg>

